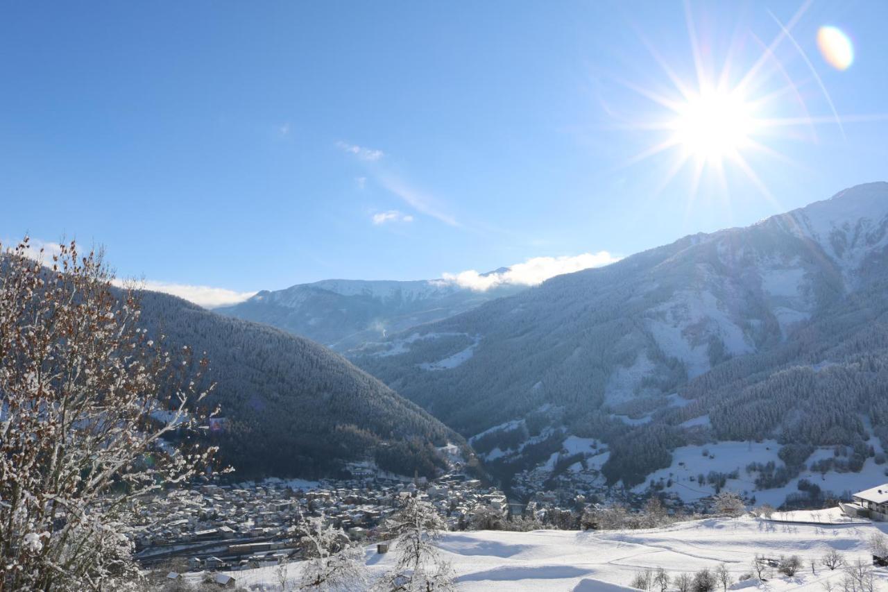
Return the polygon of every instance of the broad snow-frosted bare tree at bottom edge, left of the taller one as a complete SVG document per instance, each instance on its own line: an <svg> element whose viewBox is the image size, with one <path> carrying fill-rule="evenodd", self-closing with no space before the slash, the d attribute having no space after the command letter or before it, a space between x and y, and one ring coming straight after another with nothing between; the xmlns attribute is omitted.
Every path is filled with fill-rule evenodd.
<svg viewBox="0 0 888 592"><path fill-rule="evenodd" d="M313 516L305 525L306 552L310 558L299 579L298 589L364 590L368 578L363 549L348 540L342 529L324 524L324 516Z"/></svg>

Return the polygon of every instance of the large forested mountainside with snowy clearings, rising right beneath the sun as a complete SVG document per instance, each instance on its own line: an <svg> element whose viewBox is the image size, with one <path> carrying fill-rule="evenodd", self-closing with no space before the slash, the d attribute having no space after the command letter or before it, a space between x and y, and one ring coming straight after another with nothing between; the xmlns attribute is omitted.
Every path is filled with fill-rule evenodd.
<svg viewBox="0 0 888 592"><path fill-rule="evenodd" d="M740 457L715 486L783 486L816 460L824 474L880 475L886 247L888 183L861 185L554 277L353 360L480 435L476 450L507 481L544 463L549 476L569 467L634 486L679 447L765 438L781 447L771 466ZM689 460L686 484L706 458Z"/></svg>

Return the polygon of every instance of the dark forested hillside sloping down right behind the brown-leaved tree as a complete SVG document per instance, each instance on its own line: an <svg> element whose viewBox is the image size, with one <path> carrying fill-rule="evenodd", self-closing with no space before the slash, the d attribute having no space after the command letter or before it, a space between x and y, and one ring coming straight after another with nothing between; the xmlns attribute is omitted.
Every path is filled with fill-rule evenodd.
<svg viewBox="0 0 888 592"><path fill-rule="evenodd" d="M224 460L243 476L318 476L371 458L388 470L431 475L434 446L460 443L440 421L327 348L186 300L143 293L149 335L210 359L222 407ZM156 337L155 337L156 339Z"/></svg>

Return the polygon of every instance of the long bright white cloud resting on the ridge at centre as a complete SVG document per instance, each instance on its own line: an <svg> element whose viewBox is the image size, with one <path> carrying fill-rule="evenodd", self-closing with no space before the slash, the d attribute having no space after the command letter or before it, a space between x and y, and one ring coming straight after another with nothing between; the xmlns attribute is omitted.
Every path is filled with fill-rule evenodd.
<svg viewBox="0 0 888 592"><path fill-rule="evenodd" d="M445 273L445 281L470 290L484 292L503 284L536 285L550 277L569 274L581 269L600 268L620 260L607 251L584 252L575 256L534 257L524 263L512 265L501 273L482 275L474 269L458 274Z"/></svg>

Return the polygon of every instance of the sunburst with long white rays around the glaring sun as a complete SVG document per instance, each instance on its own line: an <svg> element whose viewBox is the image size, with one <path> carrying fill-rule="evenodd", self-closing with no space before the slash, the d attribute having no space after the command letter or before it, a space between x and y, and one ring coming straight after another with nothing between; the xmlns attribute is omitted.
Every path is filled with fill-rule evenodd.
<svg viewBox="0 0 888 592"><path fill-rule="evenodd" d="M688 36L696 73L696 80L693 82L678 76L676 69L672 68L656 48L642 36L641 42L646 44L654 60L662 68L662 72L668 76L672 88L664 92L662 89L658 91L650 86L622 81L622 84L647 100L654 101L661 108L656 114L648 114L646 121L636 117L627 122L629 129L654 132L656 140L625 164L637 164L652 156L670 153L674 156L673 162L662 180L661 189L668 185L678 172L690 166L693 199L704 174L711 173L721 187L726 188L725 172L733 168L741 172L765 196L773 199L765 183L760 180L758 173L750 164L753 162L752 156L765 155L767 156L765 162L773 162L775 159L791 162L773 148L773 140L780 137L817 140L815 131L817 124L835 124L844 137L843 118L838 115L816 68L791 34L792 28L809 5L810 0L803 4L785 25L773 14L770 15L778 31L771 44L762 43L757 36L749 32L747 47L754 47L757 44L760 52L757 52L757 59L752 60L746 68L741 68L736 60L738 52L733 45L720 67L710 64L712 68L706 68L704 55L711 57L711 48L701 49L702 45L694 28L694 19L686 4ZM835 34L831 35L830 39L836 37ZM825 34L821 36L825 38ZM842 44L843 56L852 55L850 41L847 41L847 44L848 49L844 49ZM797 61L801 59L802 72L806 75L804 84L809 85L804 94L811 97L810 86L816 84L824 106L829 106L829 115L811 116L803 92L800 92L793 77L790 76L783 63L784 60L777 57L776 51L780 45L789 51L790 59L795 58ZM823 45L821 43L821 46ZM831 42L830 47L834 45L836 43ZM851 62L850 58L843 60L843 65ZM884 119L884 115L844 118L846 121L869 119Z"/></svg>

